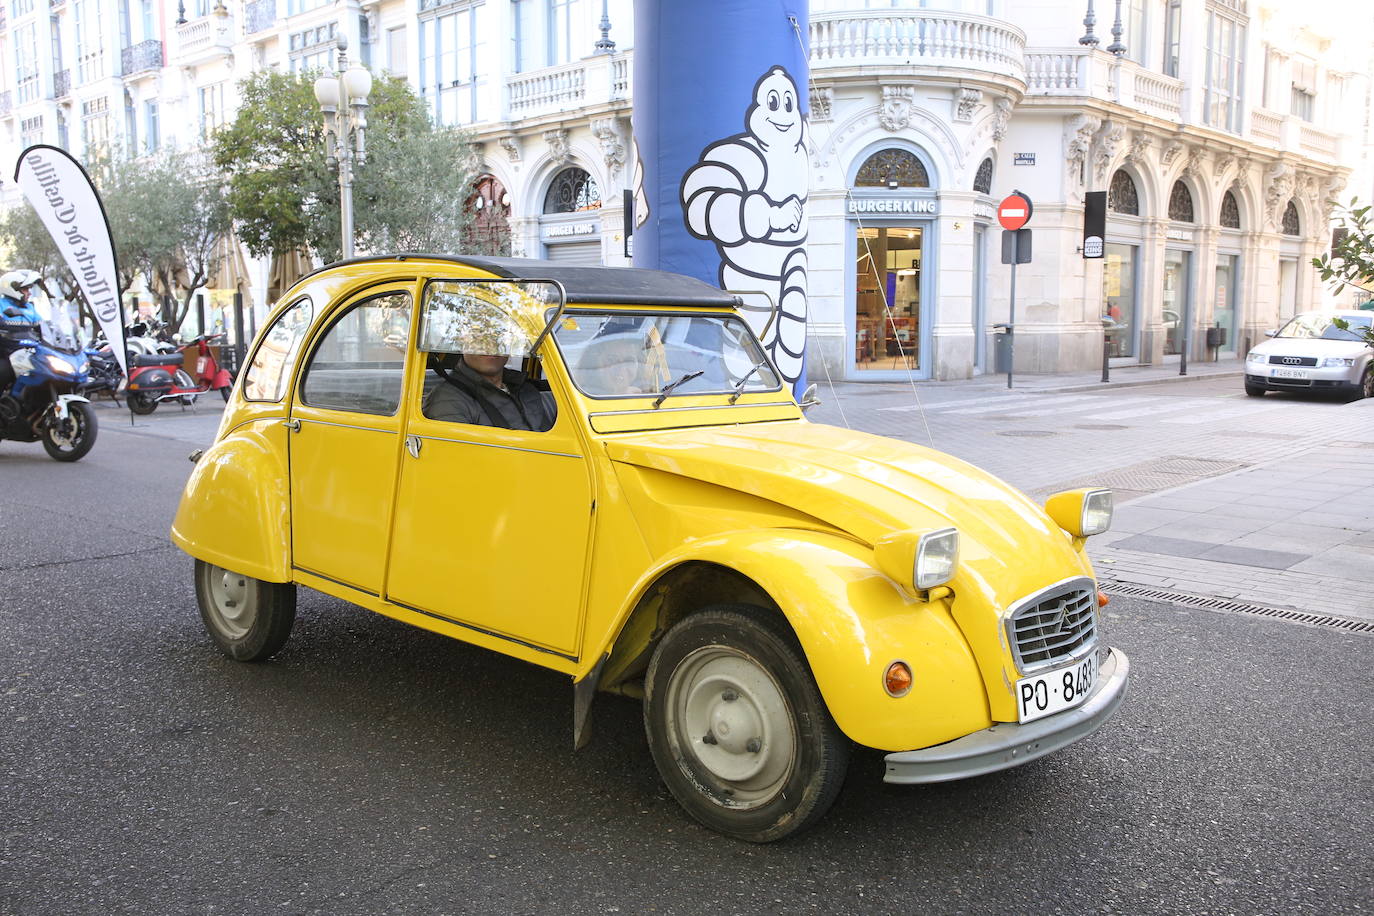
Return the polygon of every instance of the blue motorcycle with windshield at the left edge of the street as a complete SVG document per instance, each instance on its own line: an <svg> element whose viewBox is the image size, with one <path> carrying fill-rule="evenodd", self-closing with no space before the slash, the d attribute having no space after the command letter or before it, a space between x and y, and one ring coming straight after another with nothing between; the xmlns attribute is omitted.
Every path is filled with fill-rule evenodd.
<svg viewBox="0 0 1374 916"><path fill-rule="evenodd" d="M38 313L51 316L43 305ZM33 323L0 314L0 358L8 357L15 374L0 394L0 439L43 442L58 461L85 457L95 445L96 417L80 394L89 383L89 360L74 334L51 317Z"/></svg>

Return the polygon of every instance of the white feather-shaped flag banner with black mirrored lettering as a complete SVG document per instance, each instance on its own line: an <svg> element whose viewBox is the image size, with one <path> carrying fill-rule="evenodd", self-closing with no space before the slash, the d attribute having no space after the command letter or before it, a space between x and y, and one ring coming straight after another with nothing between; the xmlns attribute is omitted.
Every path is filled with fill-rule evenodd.
<svg viewBox="0 0 1374 916"><path fill-rule="evenodd" d="M128 375L114 240L91 177L65 150L38 144L19 154L14 180L76 275L120 369Z"/></svg>

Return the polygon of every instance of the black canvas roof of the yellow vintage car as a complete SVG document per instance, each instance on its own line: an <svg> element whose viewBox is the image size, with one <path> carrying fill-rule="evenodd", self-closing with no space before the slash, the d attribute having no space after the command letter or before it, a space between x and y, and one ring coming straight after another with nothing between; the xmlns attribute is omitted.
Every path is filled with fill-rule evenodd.
<svg viewBox="0 0 1374 916"><path fill-rule="evenodd" d="M430 261L451 261L486 271L500 277L518 280L558 280L567 290L569 304L603 302L606 305L695 305L712 308L738 306L739 297L723 293L709 283L682 273L666 271L644 271L642 268L587 268L540 261L536 258L485 258L453 254L382 254L326 265L363 264L368 261L390 261L425 258ZM322 268L324 269L324 268Z"/></svg>

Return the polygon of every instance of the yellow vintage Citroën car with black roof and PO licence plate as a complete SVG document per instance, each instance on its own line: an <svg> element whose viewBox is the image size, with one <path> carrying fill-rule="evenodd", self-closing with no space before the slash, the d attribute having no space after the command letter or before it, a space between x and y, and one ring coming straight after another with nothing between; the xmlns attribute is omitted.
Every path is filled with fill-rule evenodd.
<svg viewBox="0 0 1374 916"><path fill-rule="evenodd" d="M655 271L389 255L264 324L172 526L210 636L253 662L295 586L643 699L687 812L815 824L849 751L886 781L1017 766L1099 728L1129 665L1084 538L940 452L822 426L741 302Z"/></svg>

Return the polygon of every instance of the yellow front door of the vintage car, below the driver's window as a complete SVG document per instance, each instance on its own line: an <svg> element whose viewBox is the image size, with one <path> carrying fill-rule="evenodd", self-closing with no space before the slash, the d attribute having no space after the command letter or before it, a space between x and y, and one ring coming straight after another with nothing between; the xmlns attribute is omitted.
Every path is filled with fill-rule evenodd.
<svg viewBox="0 0 1374 916"><path fill-rule="evenodd" d="M387 600L576 659L592 516L576 417L559 404L545 431L430 419L436 385L415 374L407 394Z"/></svg>

